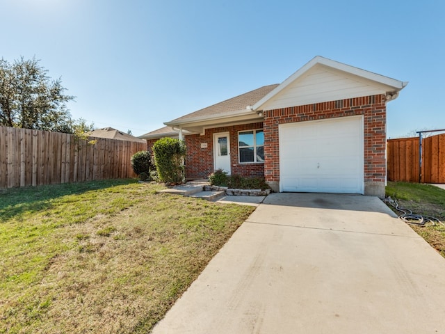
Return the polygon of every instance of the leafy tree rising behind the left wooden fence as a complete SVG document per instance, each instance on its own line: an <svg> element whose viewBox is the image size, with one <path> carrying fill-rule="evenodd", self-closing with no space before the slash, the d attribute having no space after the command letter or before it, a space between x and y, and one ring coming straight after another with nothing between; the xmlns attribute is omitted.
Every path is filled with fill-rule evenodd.
<svg viewBox="0 0 445 334"><path fill-rule="evenodd" d="M0 60L0 125L55 132L74 132L76 121L66 103L60 78L51 80L35 58L8 63Z"/></svg>

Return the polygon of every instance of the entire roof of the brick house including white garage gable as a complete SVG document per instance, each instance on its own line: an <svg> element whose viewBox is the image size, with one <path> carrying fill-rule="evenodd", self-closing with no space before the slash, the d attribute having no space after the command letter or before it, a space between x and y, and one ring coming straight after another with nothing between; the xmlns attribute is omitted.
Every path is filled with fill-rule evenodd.
<svg viewBox="0 0 445 334"><path fill-rule="evenodd" d="M378 94L386 94L387 101L394 100L406 85L407 82L316 56L282 84L263 86L164 124L204 134L211 127L261 122L261 111L266 110Z"/></svg>

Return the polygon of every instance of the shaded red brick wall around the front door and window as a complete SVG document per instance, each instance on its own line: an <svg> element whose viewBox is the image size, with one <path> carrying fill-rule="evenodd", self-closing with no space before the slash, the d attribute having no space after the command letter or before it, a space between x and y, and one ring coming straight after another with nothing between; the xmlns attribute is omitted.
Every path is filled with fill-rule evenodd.
<svg viewBox="0 0 445 334"><path fill-rule="evenodd" d="M206 129L204 135L190 134L185 136L187 146L186 177L188 179L207 178L213 173L213 134L220 132L229 132L232 175L263 177L264 164L238 163L238 131L262 128L263 123L258 122L232 127ZM207 143L207 148L201 148L201 143Z"/></svg>

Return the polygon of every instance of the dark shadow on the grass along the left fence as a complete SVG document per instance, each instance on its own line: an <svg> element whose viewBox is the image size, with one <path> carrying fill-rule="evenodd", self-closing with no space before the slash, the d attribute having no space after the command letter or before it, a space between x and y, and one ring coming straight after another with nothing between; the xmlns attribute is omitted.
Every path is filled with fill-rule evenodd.
<svg viewBox="0 0 445 334"><path fill-rule="evenodd" d="M20 218L25 213L50 209L56 198L136 182L133 179L97 180L6 189L0 191L0 223L13 217Z"/></svg>

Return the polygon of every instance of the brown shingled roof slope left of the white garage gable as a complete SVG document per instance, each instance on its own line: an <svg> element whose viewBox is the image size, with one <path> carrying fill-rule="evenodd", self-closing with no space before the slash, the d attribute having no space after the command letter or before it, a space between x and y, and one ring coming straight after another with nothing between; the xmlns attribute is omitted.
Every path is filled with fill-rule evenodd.
<svg viewBox="0 0 445 334"><path fill-rule="evenodd" d="M266 96L277 86L278 84L275 84L251 90L248 93L232 97L232 99L213 104L213 106L207 106L207 108L200 109L193 113L188 113L187 115L176 118L175 120L172 120L170 122L177 122L178 120L187 121L189 119L201 118L205 116L223 116L224 113L245 110L246 106L252 106L253 104L257 103L259 100L261 100L262 97Z"/></svg>

